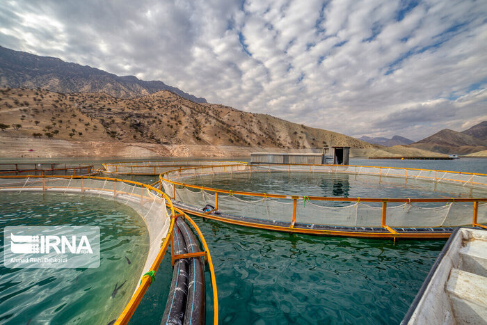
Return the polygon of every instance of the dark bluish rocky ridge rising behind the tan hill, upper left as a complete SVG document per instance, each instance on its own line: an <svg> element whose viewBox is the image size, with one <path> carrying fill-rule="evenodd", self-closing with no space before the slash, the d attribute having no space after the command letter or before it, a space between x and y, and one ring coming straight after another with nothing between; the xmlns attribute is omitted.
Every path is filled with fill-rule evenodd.
<svg viewBox="0 0 487 325"><path fill-rule="evenodd" d="M118 77L88 65L0 47L0 88L3 87L40 87L57 93L106 93L120 98L141 97L169 90L191 102L207 102L205 98L184 93L162 81L143 81L134 76Z"/></svg>

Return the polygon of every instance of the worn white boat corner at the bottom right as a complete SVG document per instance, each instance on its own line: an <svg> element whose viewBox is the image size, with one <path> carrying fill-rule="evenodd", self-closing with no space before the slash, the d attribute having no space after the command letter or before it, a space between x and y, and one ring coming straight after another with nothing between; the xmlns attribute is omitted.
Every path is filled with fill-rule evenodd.
<svg viewBox="0 0 487 325"><path fill-rule="evenodd" d="M487 324L487 230L456 228L401 324Z"/></svg>

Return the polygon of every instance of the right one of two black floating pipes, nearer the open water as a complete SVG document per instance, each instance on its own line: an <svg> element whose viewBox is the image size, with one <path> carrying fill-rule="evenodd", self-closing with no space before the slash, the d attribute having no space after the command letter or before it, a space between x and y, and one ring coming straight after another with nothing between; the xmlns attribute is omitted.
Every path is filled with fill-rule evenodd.
<svg viewBox="0 0 487 325"><path fill-rule="evenodd" d="M186 242L188 253L200 252L198 241L193 232L182 220L176 221ZM205 324L206 313L206 292L205 292L205 269L202 257L192 257L189 259L189 278L188 296L186 311L184 312L184 324Z"/></svg>

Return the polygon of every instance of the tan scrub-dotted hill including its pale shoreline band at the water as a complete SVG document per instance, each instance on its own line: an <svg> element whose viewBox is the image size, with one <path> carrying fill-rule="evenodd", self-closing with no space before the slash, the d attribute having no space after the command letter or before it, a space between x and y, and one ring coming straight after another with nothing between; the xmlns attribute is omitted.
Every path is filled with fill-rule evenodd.
<svg viewBox="0 0 487 325"><path fill-rule="evenodd" d="M123 99L5 88L0 120L3 157L228 157L326 145L349 146L365 156L417 155L413 148L383 148L265 114L191 102L167 90Z"/></svg>

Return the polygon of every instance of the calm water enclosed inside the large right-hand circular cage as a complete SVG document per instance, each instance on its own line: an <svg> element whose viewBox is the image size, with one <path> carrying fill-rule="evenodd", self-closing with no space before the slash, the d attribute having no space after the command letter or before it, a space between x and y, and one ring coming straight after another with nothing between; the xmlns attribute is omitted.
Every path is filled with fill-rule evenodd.
<svg viewBox="0 0 487 325"><path fill-rule="evenodd" d="M351 175L341 173L239 173L189 177L187 184L205 185L214 189L260 192L295 196L325 196L339 198L472 198L487 196L487 191L462 187L461 184L435 184L427 180L406 180L397 177ZM252 200L249 196L238 196ZM280 200L280 199L275 199ZM280 200L289 202L289 200ZM314 201L314 204L345 206L349 202ZM381 203L367 203L381 205ZM390 203L390 206L402 203ZM438 206L445 203L427 203Z"/></svg>

